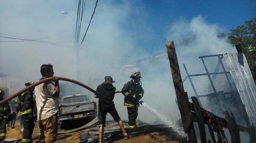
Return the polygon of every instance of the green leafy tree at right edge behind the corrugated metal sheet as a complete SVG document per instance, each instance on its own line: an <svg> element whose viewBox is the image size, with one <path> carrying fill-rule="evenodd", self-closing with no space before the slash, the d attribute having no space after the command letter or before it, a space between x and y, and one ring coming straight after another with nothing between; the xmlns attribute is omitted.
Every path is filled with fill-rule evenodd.
<svg viewBox="0 0 256 143"><path fill-rule="evenodd" d="M245 25L231 29L228 38L233 45L241 44L256 84L256 17L246 20Z"/></svg>

